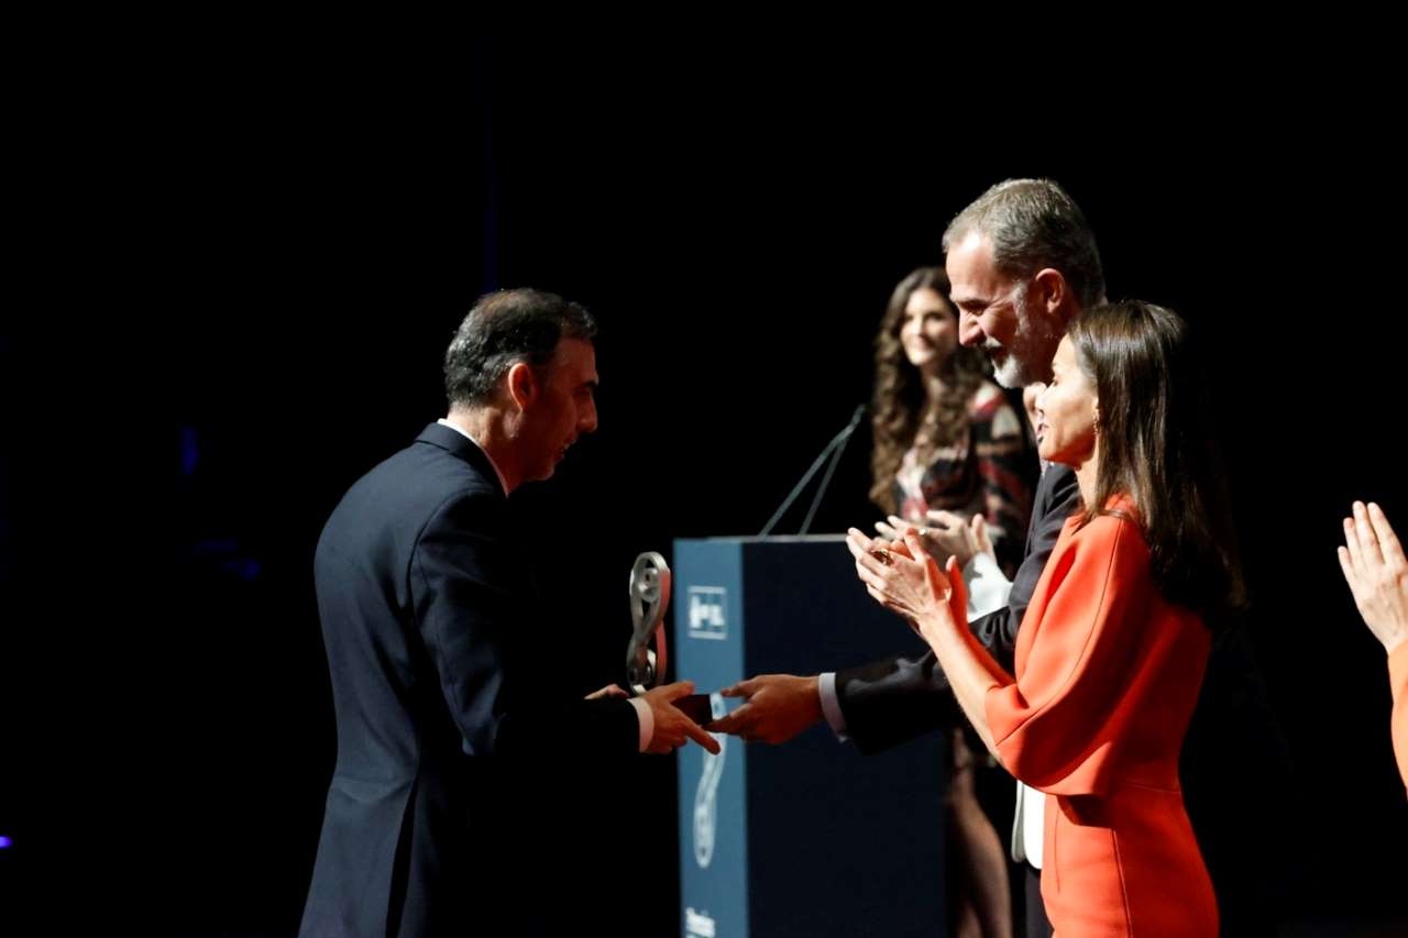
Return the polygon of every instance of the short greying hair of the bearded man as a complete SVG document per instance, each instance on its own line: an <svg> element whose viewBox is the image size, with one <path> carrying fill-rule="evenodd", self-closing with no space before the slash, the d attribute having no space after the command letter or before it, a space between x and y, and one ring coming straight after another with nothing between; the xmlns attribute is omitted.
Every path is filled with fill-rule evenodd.
<svg viewBox="0 0 1408 938"><path fill-rule="evenodd" d="M1066 190L1050 179L1008 179L973 200L949 223L943 251L970 232L993 245L993 263L1011 277L1060 270L1081 308L1104 303L1105 273L1095 232Z"/></svg>

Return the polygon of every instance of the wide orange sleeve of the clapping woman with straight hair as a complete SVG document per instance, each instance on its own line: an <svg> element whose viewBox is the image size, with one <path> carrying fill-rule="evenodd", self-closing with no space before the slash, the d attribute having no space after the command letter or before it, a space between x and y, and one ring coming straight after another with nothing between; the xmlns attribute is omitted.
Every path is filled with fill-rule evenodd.
<svg viewBox="0 0 1408 938"><path fill-rule="evenodd" d="M1132 523L1105 515L1050 563L1052 592L1022 623L1036 630L1022 676L988 690L984 708L1008 772L1050 794L1098 794L1121 711L1136 706L1128 692L1149 665L1149 551Z"/></svg>

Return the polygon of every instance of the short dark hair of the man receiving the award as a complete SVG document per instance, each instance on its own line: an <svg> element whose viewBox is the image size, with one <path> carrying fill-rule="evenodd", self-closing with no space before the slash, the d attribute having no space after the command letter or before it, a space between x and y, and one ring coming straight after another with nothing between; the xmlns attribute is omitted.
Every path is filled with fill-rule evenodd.
<svg viewBox="0 0 1408 938"><path fill-rule="evenodd" d="M590 341L597 323L577 303L556 293L518 289L479 297L445 351L449 406L487 404L494 386L517 362L539 369L565 338Z"/></svg>

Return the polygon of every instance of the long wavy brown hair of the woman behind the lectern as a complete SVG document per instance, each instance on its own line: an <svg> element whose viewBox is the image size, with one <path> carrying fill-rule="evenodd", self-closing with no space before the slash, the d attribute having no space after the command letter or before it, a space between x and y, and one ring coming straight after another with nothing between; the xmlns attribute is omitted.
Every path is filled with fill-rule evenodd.
<svg viewBox="0 0 1408 938"><path fill-rule="evenodd" d="M943 297L949 315L957 313L949 303L949 277L943 268L919 268L900 280L890 294L890 306L876 335L876 387L872 406L874 446L870 451L870 500L886 513L898 510L894 499L894 475L905 451L914 444L924 408L924 382L919 369L910 363L900 341L904 311L915 290L934 290ZM987 358L977 349L959 345L943 363L943 380L952 389L938 401L935 446L953 442L969 421L969 401L987 375Z"/></svg>

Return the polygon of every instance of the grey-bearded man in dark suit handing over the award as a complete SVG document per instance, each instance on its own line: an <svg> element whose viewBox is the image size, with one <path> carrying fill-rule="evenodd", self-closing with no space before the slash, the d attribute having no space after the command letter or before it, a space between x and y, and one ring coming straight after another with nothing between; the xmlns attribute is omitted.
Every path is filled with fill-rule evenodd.
<svg viewBox="0 0 1408 938"><path fill-rule="evenodd" d="M1056 346L1071 318L1104 301L1105 283L1095 237L1070 196L1050 180L1018 179L998 183L960 211L943 234L950 301L959 313L959 341L977 345L993 359L994 376L1004 387L1028 387L1050 380ZM969 627L1008 670L1017 646L1017 630L1041 579L1066 518L1080 507L1074 473L1048 466L1036 486L1025 556L1012 580L1007 606L974 618ZM921 534L941 554L956 554L964 577L972 554L957 531L924 530ZM825 720L836 734L866 753L880 752L934 730L960 725L963 720L949 682L932 651L919 656L898 655L834 673L759 675L725 689L724 696L746 697L715 732L745 739L786 742ZM1228 758L1236 753L1238 765ZM1190 758L1191 755L1191 758ZM1232 831L1222 821L1228 807L1228 777L1278 777L1287 761L1264 700L1264 689L1240 632L1214 651L1183 751L1183 779L1188 814L1208 862L1225 934L1273 934L1276 889L1280 870L1267 863L1245 862L1238 851L1253 851L1271 837L1274 810L1259 815L1245 808L1253 801L1238 792L1242 824L1260 823L1250 831ZM1239 770L1240 769L1240 770ZM1245 797L1243 797L1245 796ZM1264 799L1253 801L1264 804ZM1022 807L1019 806L1019 813ZM1035 821L1039 838L1041 818ZM1014 831L1014 859L1026 861L1028 935L1049 935L1039 892L1039 855L1022 849ZM1253 853L1255 856L1255 853Z"/></svg>

